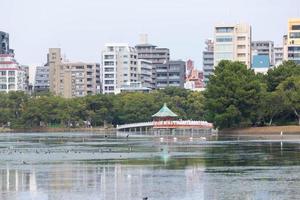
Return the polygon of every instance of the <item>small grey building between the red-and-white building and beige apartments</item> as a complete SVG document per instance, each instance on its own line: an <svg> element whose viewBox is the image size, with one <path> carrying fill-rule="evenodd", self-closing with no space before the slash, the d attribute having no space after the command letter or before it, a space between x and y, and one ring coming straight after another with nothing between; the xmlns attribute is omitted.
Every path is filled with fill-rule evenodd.
<svg viewBox="0 0 300 200"><path fill-rule="evenodd" d="M49 91L49 66L38 66L36 67L35 80L34 80L34 91L35 92L47 92Z"/></svg>

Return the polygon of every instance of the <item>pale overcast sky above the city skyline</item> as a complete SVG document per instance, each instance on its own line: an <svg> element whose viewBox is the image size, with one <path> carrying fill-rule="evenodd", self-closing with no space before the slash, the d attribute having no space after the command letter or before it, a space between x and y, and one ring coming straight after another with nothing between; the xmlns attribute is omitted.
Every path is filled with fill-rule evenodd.
<svg viewBox="0 0 300 200"><path fill-rule="evenodd" d="M46 62L50 47L71 61L100 62L107 42L134 46L140 33L191 58L202 68L206 38L218 23L249 23L253 40L282 44L287 20L300 17L299 0L0 0L0 30L21 64Z"/></svg>

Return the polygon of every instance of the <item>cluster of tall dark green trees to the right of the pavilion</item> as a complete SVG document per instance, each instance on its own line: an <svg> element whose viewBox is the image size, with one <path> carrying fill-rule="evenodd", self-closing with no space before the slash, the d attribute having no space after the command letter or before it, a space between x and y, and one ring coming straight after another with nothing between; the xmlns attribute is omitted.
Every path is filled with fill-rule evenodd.
<svg viewBox="0 0 300 200"><path fill-rule="evenodd" d="M204 92L205 119L215 127L300 125L300 66L292 61L255 74L222 61Z"/></svg>

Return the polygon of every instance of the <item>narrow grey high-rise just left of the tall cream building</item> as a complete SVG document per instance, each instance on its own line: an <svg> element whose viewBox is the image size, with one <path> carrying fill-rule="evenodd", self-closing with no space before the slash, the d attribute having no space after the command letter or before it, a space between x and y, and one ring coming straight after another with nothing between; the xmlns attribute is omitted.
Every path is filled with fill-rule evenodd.
<svg viewBox="0 0 300 200"><path fill-rule="evenodd" d="M214 71L214 41L208 39L205 41L205 50L203 51L203 76L204 84L208 83L209 76Z"/></svg>

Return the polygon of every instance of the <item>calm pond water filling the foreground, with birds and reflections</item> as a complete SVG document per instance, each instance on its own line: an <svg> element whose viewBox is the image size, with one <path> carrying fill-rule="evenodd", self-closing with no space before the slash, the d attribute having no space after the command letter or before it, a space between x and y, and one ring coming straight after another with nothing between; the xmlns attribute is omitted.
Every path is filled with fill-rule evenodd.
<svg viewBox="0 0 300 200"><path fill-rule="evenodd" d="M0 199L300 199L300 140L0 135Z"/></svg>

